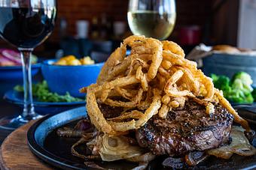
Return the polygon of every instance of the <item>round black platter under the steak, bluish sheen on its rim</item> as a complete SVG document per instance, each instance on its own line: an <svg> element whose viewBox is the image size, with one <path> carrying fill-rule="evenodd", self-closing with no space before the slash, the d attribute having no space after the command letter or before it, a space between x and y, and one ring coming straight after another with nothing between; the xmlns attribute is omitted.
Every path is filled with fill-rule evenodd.
<svg viewBox="0 0 256 170"><path fill-rule="evenodd" d="M241 115L253 114L247 111L239 112ZM57 115L49 115L37 121L30 127L27 138L31 151L49 163L61 169L88 169L84 161L71 154L72 145L78 138L62 138L56 136L56 129L62 126L74 126L75 123L86 116L85 107L72 109ZM255 130L255 124L251 122L251 127ZM82 149L81 149L82 151ZM148 169L165 169L161 166L163 158L156 159L150 163ZM106 169L132 169L136 165L125 161L115 161L112 163L97 162ZM230 160L209 157L203 163L190 169L256 169L256 156L241 157L233 155Z"/></svg>

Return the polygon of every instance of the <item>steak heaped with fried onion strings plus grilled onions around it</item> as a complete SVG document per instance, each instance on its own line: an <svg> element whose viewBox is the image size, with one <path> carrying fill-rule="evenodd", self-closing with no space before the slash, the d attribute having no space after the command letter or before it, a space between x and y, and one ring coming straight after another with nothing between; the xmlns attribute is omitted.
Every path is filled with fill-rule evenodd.
<svg viewBox="0 0 256 170"><path fill-rule="evenodd" d="M168 156L163 164L184 168L212 155L228 160L256 153L248 122L172 41L127 37L105 62L96 84L81 92L87 93L89 117L56 133L81 137L71 152L88 167L103 169L95 161L124 160L146 169Z"/></svg>

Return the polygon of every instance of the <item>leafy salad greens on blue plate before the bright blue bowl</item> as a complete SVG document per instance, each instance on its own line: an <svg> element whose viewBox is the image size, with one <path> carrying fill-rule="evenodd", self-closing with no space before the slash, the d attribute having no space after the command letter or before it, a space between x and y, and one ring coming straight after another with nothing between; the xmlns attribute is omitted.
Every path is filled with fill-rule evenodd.
<svg viewBox="0 0 256 170"><path fill-rule="evenodd" d="M23 92L23 86L16 85L15 91ZM72 97L69 92L65 95L59 95L49 91L46 81L39 82L38 84L32 85L33 96L41 102L80 102L83 101L80 98Z"/></svg>

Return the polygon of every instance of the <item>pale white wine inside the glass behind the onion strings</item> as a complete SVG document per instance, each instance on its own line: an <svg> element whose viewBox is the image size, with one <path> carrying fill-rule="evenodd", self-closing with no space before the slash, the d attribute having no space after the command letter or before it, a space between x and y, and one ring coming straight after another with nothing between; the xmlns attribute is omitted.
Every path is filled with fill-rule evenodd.
<svg viewBox="0 0 256 170"><path fill-rule="evenodd" d="M172 33L176 13L159 13L152 10L137 10L127 13L133 34L164 40Z"/></svg>

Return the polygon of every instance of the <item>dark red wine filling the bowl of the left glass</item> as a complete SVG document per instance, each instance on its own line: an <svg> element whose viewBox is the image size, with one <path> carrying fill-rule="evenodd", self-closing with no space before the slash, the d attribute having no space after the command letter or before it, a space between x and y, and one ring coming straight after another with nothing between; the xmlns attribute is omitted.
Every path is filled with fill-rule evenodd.
<svg viewBox="0 0 256 170"><path fill-rule="evenodd" d="M56 8L0 7L0 35L19 48L34 48L53 31Z"/></svg>

